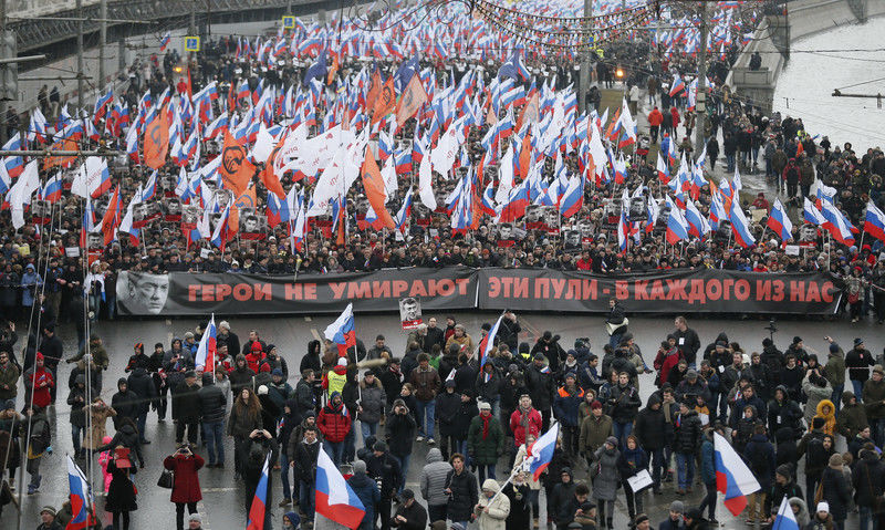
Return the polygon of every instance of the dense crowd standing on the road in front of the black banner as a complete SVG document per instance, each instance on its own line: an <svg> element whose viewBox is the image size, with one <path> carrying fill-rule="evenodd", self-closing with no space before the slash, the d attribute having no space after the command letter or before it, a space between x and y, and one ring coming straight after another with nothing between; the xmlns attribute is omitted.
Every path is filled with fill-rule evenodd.
<svg viewBox="0 0 885 530"><path fill-rule="evenodd" d="M610 321L618 318L623 311L613 308ZM771 523L784 497L800 528L843 529L855 509L861 529L885 517L878 508L885 371L883 355L862 337L847 352L826 337L825 353L818 353L799 336L783 351L771 339L757 350L725 332L701 341L679 316L656 352L646 346L643 354L622 321L595 354L586 339L572 344L550 331L527 343L518 316L508 312L485 362L477 345L491 326L483 324L475 339L448 316L412 332L402 355L383 335L368 344L357 340L344 356L330 341L311 341L296 371L285 360L291 352L257 330L241 339L222 321L215 370L197 372L205 325L153 350L136 343L125 366L108 362L97 335L90 337L88 354L70 355L51 322L21 350L12 328L0 344L4 491L20 472L30 476L29 495L40 490L41 457L52 450L56 417L46 413L58 395L71 408L73 455L84 469L101 467L95 487L106 492L114 528L128 528L137 509L133 480L144 479L132 477L144 468L150 444L145 426L167 419L178 445L164 467L175 475L170 500L179 529L186 510L189 528L199 528L201 468L226 469L241 480L248 513L269 454L271 480L282 481L279 507L292 510L283 528L306 528L320 447L345 469L366 507L361 529L466 529L475 520L479 528L539 528L541 501L548 528L613 528L621 498L631 526L647 529L649 496L680 498L698 485L707 493L700 506L674 501L657 528L704 529L718 524L714 433L729 440L761 486L749 498L748 523ZM75 364L66 382L56 378L61 362ZM105 378L115 372L121 377L105 399ZM642 373L656 373L644 403ZM559 429L555 451L535 479L523 461L550 428ZM232 456L225 453L227 437ZM413 461L425 444L426 463ZM837 453L837 445L846 450ZM418 466L414 491L405 481ZM641 472L652 484L634 493L629 480ZM268 524L277 502L271 491ZM64 528L71 506L43 513Z"/></svg>

